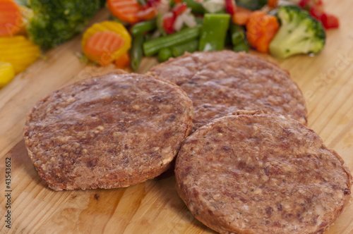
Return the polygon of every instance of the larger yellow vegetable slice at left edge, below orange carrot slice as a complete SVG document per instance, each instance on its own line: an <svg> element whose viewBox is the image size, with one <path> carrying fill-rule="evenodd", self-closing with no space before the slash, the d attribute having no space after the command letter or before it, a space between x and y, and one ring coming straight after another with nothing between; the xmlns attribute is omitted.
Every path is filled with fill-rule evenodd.
<svg viewBox="0 0 353 234"><path fill-rule="evenodd" d="M23 36L0 37L0 61L11 63L21 73L40 57L40 47Z"/></svg>

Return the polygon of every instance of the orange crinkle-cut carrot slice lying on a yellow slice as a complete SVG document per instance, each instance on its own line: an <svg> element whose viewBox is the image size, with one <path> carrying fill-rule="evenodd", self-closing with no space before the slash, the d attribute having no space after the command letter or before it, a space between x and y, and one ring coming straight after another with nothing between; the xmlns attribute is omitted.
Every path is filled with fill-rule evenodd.
<svg viewBox="0 0 353 234"><path fill-rule="evenodd" d="M125 39L115 32L96 32L84 47L85 55L90 60L107 66L114 61L114 53L124 46Z"/></svg>

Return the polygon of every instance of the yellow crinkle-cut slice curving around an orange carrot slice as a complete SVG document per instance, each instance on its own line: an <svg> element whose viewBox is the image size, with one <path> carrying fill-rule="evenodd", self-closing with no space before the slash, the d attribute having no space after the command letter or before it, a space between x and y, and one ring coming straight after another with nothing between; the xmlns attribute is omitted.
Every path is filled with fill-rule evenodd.
<svg viewBox="0 0 353 234"><path fill-rule="evenodd" d="M112 54L113 61L116 58L120 58L123 54L128 51L128 49L131 48L131 35L128 33L128 30L126 30L124 25L115 21L104 21L101 23L95 23L85 31L81 42L83 51L85 49L86 42L88 41L88 39L90 39L90 37L92 37L92 35L95 35L96 32L104 31L115 32L116 34L120 35L123 39L125 39L124 46L117 50L114 54Z"/></svg>

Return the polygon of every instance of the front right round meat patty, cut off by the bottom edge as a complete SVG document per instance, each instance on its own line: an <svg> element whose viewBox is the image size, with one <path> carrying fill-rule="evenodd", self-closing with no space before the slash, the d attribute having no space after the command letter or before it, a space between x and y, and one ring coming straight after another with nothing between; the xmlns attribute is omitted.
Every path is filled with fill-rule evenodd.
<svg viewBox="0 0 353 234"><path fill-rule="evenodd" d="M313 130L261 111L196 130L175 173L193 215L220 233L323 233L352 186L347 166Z"/></svg>

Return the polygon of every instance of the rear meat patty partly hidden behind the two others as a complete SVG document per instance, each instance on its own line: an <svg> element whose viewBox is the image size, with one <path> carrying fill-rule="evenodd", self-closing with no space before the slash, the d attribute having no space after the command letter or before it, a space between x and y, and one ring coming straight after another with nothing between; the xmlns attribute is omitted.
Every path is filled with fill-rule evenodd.
<svg viewBox="0 0 353 234"><path fill-rule="evenodd" d="M257 56L233 51L184 54L151 68L150 74L188 94L195 129L239 109L281 113L306 125L298 86L287 71Z"/></svg>

